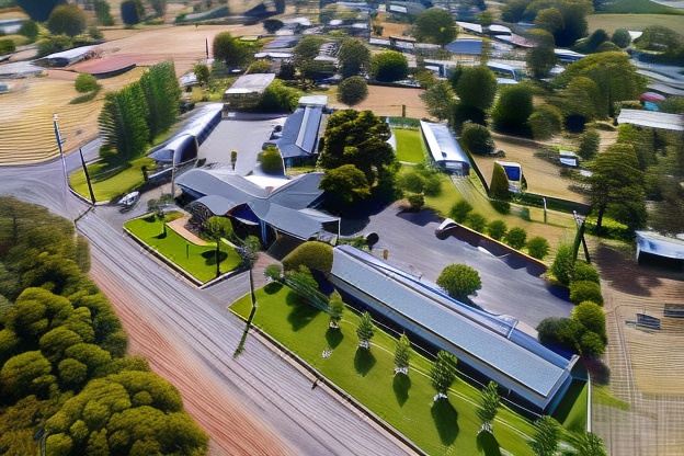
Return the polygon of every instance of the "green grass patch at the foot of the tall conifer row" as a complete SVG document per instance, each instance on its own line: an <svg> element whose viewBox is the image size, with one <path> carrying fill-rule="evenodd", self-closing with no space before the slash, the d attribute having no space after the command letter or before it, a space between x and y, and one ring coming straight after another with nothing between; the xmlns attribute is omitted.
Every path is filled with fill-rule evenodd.
<svg viewBox="0 0 684 456"><path fill-rule="evenodd" d="M93 186L95 200L99 202L111 201L115 196L130 192L144 182L142 167L152 167L155 161L142 157L129 163L111 163L99 161L88 166L88 173ZM79 195L90 200L86 173L79 168L69 176L69 184Z"/></svg>

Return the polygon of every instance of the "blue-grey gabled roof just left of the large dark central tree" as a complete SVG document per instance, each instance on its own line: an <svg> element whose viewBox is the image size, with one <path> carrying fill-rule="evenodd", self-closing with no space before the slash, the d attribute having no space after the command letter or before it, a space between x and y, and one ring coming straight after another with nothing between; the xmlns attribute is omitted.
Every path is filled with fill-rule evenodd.
<svg viewBox="0 0 684 456"><path fill-rule="evenodd" d="M292 113L285 121L281 138L275 141L283 158L315 155L322 118L322 106L298 107Z"/></svg>

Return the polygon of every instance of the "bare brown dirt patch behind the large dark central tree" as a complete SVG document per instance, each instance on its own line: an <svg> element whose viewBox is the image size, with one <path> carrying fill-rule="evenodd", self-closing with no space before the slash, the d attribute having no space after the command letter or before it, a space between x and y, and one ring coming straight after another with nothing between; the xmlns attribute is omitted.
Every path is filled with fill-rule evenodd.
<svg viewBox="0 0 684 456"><path fill-rule="evenodd" d="M354 106L355 110L371 110L376 115L401 116L401 105L406 104L407 117L430 117L425 104L420 99L421 89L399 89L395 87L368 86L368 96ZM337 101L337 90L332 88L327 93L329 104L333 107L345 109L345 104Z"/></svg>

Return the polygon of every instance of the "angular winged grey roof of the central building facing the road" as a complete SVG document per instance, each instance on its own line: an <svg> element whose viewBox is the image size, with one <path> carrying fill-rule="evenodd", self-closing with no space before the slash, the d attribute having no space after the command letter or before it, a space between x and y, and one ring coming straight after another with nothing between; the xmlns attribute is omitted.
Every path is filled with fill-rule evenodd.
<svg viewBox="0 0 684 456"><path fill-rule="evenodd" d="M321 179L322 173L303 174L269 192L231 171L196 168L175 183L200 196L196 203L216 215L247 206L275 229L306 240L323 231L323 224L338 220L310 207L323 193L318 187Z"/></svg>

